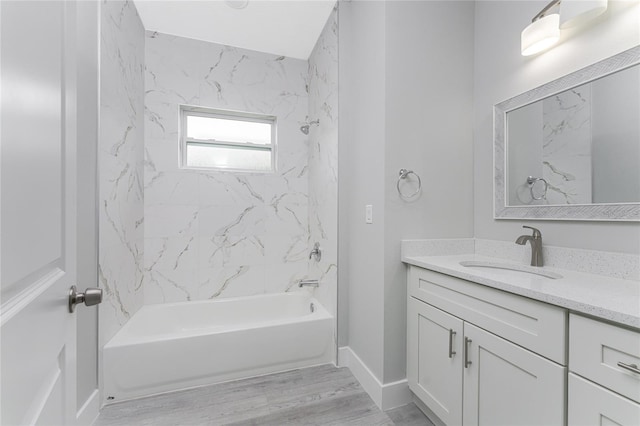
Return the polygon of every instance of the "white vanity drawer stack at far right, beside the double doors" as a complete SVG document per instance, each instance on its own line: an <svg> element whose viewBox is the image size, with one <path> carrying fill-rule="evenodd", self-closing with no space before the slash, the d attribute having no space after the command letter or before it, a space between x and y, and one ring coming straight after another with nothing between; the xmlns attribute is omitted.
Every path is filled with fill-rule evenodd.
<svg viewBox="0 0 640 426"><path fill-rule="evenodd" d="M569 336L569 425L640 425L640 333L571 314Z"/></svg>

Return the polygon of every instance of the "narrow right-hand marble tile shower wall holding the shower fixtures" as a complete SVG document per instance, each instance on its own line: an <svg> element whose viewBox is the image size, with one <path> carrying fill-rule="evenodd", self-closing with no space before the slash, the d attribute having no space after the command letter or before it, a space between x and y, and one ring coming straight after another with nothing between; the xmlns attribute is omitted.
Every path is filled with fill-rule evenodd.
<svg viewBox="0 0 640 426"><path fill-rule="evenodd" d="M322 260L309 275L321 282L316 297L334 315L338 265L338 10L333 10L309 57L309 230Z"/></svg>

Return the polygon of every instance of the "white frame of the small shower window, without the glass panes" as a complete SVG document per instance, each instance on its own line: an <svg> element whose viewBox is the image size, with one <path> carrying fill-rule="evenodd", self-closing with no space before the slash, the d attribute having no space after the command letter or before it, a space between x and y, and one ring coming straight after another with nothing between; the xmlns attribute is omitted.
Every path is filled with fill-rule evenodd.
<svg viewBox="0 0 640 426"><path fill-rule="evenodd" d="M219 118L225 120L245 121L252 123L265 123L271 126L271 143L255 144L251 142L230 142L218 141L215 139L195 139L187 137L187 117ZM181 169L189 170L209 170L217 172L241 172L256 174L274 174L277 172L277 117L274 115L257 114L242 111L221 110L200 106L180 105L180 126L179 126L179 162ZM187 165L187 145L216 146L226 148L237 148L247 151L270 151L271 168L269 170L257 170L248 168L216 167L216 166L189 166Z"/></svg>

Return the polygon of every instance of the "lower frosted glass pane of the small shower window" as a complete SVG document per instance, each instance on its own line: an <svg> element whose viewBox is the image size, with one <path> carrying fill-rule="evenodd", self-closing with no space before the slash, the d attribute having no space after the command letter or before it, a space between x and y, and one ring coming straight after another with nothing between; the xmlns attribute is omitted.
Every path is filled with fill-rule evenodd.
<svg viewBox="0 0 640 426"><path fill-rule="evenodd" d="M187 143L187 167L271 170L271 150Z"/></svg>

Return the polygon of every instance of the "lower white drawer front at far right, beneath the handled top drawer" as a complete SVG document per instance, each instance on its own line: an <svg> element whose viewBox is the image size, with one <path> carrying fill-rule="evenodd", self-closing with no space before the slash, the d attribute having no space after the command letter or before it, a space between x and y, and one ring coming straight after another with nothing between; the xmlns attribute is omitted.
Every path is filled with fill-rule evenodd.
<svg viewBox="0 0 640 426"><path fill-rule="evenodd" d="M640 404L569 373L569 426L640 424Z"/></svg>

